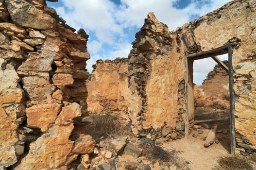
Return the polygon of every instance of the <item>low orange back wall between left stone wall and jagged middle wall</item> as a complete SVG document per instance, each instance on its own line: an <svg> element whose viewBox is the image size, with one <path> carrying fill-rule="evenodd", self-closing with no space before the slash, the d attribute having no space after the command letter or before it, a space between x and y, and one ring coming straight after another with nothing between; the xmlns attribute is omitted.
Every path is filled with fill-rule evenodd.
<svg viewBox="0 0 256 170"><path fill-rule="evenodd" d="M86 86L88 113L127 113L128 59L98 60Z"/></svg>

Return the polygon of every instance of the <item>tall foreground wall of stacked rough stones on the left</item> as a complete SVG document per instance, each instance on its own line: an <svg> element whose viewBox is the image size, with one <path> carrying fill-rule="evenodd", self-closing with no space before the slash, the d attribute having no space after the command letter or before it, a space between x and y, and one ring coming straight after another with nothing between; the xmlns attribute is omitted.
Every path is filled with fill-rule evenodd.
<svg viewBox="0 0 256 170"><path fill-rule="evenodd" d="M88 35L74 31L45 0L0 1L1 170L68 169L93 151L90 136L72 134L90 58Z"/></svg>

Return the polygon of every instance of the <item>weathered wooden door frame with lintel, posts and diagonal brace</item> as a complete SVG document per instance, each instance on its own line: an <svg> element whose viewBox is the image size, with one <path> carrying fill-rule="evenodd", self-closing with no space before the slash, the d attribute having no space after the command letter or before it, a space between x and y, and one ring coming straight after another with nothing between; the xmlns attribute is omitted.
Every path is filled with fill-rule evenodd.
<svg viewBox="0 0 256 170"><path fill-rule="evenodd" d="M189 129L191 129L191 125L194 124L195 121L195 105L194 105L194 85L193 85L193 62L195 60L204 59L211 57L214 61L216 61L219 66L228 71L229 78L229 99L230 99L230 151L231 154L234 154L234 150L236 147L235 141L235 130L234 130L234 102L235 102L235 94L233 89L233 67L232 67L232 47L237 45L236 42L227 44L223 47L212 49L210 51L202 51L189 54L185 57L186 63L186 121L185 121L185 137L189 135ZM217 57L218 55L228 53L228 67Z"/></svg>

